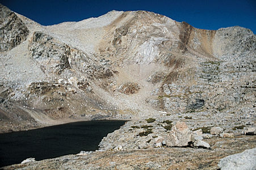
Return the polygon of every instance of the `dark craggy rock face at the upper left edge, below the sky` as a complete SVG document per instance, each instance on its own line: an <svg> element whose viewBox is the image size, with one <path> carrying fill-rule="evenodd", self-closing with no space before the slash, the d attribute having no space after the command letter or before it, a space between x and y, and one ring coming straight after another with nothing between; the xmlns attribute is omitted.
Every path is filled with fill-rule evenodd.
<svg viewBox="0 0 256 170"><path fill-rule="evenodd" d="M6 51L26 40L28 28L9 8L0 4L0 51Z"/></svg>

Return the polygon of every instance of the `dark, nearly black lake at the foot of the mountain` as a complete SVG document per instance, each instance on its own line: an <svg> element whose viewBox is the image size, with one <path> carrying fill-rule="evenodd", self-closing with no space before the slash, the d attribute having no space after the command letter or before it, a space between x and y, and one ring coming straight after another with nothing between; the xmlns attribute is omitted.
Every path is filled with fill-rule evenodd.
<svg viewBox="0 0 256 170"><path fill-rule="evenodd" d="M0 167L24 159L42 160L95 151L108 133L125 121L85 121L28 131L0 134Z"/></svg>

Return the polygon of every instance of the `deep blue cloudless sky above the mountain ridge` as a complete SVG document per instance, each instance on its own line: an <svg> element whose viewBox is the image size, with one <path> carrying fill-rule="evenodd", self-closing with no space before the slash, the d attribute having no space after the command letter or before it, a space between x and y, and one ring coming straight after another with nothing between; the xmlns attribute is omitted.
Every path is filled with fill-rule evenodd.
<svg viewBox="0 0 256 170"><path fill-rule="evenodd" d="M256 0L0 0L0 3L42 25L79 21L111 10L146 10L196 28L240 25L256 32Z"/></svg>

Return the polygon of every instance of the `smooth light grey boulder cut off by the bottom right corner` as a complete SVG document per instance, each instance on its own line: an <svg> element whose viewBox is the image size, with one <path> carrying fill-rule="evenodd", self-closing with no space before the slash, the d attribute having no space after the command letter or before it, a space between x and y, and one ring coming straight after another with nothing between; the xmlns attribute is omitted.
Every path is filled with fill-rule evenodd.
<svg viewBox="0 0 256 170"><path fill-rule="evenodd" d="M245 150L240 154L226 156L221 159L218 166L221 170L254 170L256 169L256 148Z"/></svg>

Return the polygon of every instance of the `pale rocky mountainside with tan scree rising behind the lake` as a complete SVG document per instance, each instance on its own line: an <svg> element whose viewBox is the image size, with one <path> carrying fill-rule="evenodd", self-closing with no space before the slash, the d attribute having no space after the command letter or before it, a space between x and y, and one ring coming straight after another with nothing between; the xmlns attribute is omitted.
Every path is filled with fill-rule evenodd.
<svg viewBox="0 0 256 170"><path fill-rule="evenodd" d="M27 117L35 120L31 126L44 126L45 117L58 124L160 116L159 110L255 114L249 29L197 29L147 11L47 27L2 5L1 16L2 131L23 128L27 123L18 124ZM9 102L23 112L14 115Z"/></svg>

